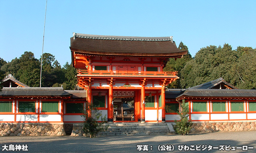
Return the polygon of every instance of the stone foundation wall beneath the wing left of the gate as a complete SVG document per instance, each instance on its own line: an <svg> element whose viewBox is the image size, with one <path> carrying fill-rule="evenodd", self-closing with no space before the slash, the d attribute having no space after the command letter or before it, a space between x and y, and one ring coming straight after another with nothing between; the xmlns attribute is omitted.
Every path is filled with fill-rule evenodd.
<svg viewBox="0 0 256 153"><path fill-rule="evenodd" d="M0 123L0 136L63 136L66 135L65 126L49 123Z"/></svg>

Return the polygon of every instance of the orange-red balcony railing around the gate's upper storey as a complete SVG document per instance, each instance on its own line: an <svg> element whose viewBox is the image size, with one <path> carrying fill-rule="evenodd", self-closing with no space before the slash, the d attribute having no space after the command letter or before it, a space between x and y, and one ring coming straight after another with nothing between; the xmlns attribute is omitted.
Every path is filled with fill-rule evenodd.
<svg viewBox="0 0 256 153"><path fill-rule="evenodd" d="M103 71L103 70L77 70L78 76L129 76L129 77L177 77L178 72L158 72L158 71Z"/></svg>

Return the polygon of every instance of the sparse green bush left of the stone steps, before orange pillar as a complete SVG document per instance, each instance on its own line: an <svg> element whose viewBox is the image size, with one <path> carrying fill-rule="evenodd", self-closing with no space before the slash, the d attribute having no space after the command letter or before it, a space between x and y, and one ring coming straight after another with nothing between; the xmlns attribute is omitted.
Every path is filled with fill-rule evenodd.
<svg viewBox="0 0 256 153"><path fill-rule="evenodd" d="M104 123L107 122L106 115L102 117L101 112L94 107L92 104L86 102L87 109L84 110L83 122L83 131L86 136L93 138L97 133L107 130L108 126L105 126ZM98 119L101 117L101 122L98 122Z"/></svg>

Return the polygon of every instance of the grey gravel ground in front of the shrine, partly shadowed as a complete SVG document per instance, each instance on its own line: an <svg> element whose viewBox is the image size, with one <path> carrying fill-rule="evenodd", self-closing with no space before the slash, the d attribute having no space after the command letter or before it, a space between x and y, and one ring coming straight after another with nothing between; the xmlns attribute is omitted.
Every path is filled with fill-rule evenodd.
<svg viewBox="0 0 256 153"><path fill-rule="evenodd" d="M230 153L255 153L256 152L256 131L245 132L216 132L206 134L189 134L188 136L170 135L170 136L105 136L105 137L70 137L70 136L21 136L21 137L0 137L0 153L16 152L11 150L3 150L4 145L26 146L31 153L133 153L133 152L159 152L158 149L165 149L166 146L174 146L171 148L173 153L181 152L227 152L225 146L229 146ZM137 146L141 145L141 146ZM144 146L143 146L144 145ZM199 147L201 151L185 151L181 149L182 145L186 145L189 149ZM194 146L193 146L194 145ZM224 145L224 150L221 146ZM180 148L178 148L180 146ZM212 146L212 150L210 150ZM253 147L254 149L248 149ZM188 148L186 147L186 149ZM213 149L218 147L218 149ZM236 150L233 150L235 147ZM242 147L242 149L237 149ZM139 151L139 148L142 150ZM247 148L247 149L246 149ZM24 148L23 148L24 149ZM144 151L143 151L144 149ZM146 150L148 149L148 151ZM203 150L205 149L205 150ZM25 148L26 150L26 148ZM209 151L208 151L209 150ZM167 152L167 151L160 151Z"/></svg>

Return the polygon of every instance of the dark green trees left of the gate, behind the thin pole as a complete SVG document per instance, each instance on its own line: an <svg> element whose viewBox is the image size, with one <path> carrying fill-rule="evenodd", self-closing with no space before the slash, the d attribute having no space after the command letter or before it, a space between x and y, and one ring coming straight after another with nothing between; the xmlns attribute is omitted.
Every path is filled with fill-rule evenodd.
<svg viewBox="0 0 256 153"><path fill-rule="evenodd" d="M19 58L6 62L0 59L0 80L12 74L20 82L30 87L40 86L41 58L36 59L32 52L24 52ZM1 74L3 74L1 78ZM61 68L52 54L44 53L42 61L42 87L61 87L73 90L76 85L76 70L68 62Z"/></svg>

